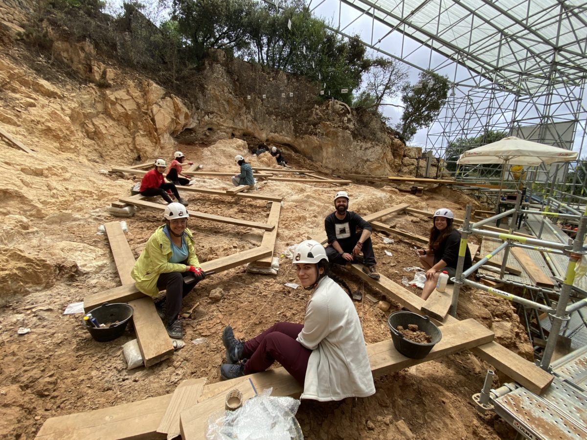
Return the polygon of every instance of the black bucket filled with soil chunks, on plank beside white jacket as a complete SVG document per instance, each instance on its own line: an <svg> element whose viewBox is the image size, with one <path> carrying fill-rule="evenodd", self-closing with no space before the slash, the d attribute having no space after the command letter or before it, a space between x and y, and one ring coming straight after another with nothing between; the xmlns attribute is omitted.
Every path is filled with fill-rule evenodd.
<svg viewBox="0 0 587 440"><path fill-rule="evenodd" d="M432 341L428 344L420 344L404 338L396 327L402 326L407 329L408 324L416 324L419 330L432 337ZM393 312L387 319L387 325L389 326L389 331L392 332L393 346L396 347L397 351L411 359L423 359L430 353L432 347L442 339L442 333L440 333L440 329L436 324L430 322L429 317L420 316L417 313Z"/></svg>

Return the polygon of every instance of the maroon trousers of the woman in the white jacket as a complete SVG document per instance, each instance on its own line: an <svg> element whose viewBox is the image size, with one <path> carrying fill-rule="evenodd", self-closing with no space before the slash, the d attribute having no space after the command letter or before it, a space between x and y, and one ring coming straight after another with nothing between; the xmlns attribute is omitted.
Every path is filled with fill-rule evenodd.
<svg viewBox="0 0 587 440"><path fill-rule="evenodd" d="M265 371L274 361L278 361L303 385L312 350L296 341L302 329L302 324L279 322L247 341L242 349L242 358L248 358L245 374Z"/></svg>

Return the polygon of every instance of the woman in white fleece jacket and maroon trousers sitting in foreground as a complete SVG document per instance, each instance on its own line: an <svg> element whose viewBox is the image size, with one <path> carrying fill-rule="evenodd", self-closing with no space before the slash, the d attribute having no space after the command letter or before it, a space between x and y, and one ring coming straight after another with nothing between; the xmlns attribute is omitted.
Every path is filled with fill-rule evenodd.
<svg viewBox="0 0 587 440"><path fill-rule="evenodd" d="M324 246L300 243L293 263L305 289L313 289L303 324L277 323L246 342L225 327L223 379L264 371L278 361L303 385L302 399L341 400L375 394L359 316L350 296L328 276ZM346 286L346 283L340 281Z"/></svg>

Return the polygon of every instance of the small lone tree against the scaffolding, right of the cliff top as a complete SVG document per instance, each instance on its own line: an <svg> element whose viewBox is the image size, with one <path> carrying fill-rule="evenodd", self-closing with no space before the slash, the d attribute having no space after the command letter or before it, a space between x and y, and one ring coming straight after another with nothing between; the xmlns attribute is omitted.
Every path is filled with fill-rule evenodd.
<svg viewBox="0 0 587 440"><path fill-rule="evenodd" d="M397 125L397 129L404 143L411 140L420 128L433 123L446 103L448 89L448 78L431 70L420 72L416 84L402 87L404 113L402 123Z"/></svg>

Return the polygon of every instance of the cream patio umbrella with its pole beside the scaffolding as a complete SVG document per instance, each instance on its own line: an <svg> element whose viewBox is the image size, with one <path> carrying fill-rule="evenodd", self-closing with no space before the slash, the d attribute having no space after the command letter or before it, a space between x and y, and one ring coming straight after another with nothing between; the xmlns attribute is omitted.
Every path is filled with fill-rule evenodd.
<svg viewBox="0 0 587 440"><path fill-rule="evenodd" d="M497 142L465 151L458 158L457 164L504 164L501 170L500 191L497 196L499 203L501 186L504 183L504 171L508 164L538 167L540 164L549 165L555 162L572 161L578 155L579 153L576 151L509 136Z"/></svg>

